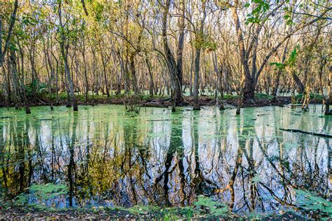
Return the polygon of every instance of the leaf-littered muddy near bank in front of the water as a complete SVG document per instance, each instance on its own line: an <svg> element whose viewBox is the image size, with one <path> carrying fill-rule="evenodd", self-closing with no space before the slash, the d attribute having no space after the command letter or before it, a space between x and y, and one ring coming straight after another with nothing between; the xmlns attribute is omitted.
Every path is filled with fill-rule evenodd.
<svg viewBox="0 0 332 221"><path fill-rule="evenodd" d="M1 208L1 206L0 206ZM129 212L117 208L88 210L36 210L29 207L13 207L0 210L0 220L305 220L305 217L293 211L281 211L281 213L263 213L253 215L237 215L226 213L214 216L206 210L205 213L193 213L186 208L172 209L159 208L160 210L137 210Z"/></svg>

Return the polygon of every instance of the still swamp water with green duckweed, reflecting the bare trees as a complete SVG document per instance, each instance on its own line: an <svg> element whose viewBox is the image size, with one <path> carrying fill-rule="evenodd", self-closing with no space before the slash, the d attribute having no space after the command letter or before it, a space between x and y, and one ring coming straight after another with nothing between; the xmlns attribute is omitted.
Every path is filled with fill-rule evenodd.
<svg viewBox="0 0 332 221"><path fill-rule="evenodd" d="M289 107L176 113L121 105L0 109L0 191L54 208L190 206L332 215L331 116ZM24 194L23 194L24 193ZM311 207L310 207L311 206Z"/></svg>

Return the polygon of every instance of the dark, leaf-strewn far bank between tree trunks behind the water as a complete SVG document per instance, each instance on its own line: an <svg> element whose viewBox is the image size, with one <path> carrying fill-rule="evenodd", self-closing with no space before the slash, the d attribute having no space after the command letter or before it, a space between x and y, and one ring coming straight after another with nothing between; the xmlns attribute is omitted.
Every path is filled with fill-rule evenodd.
<svg viewBox="0 0 332 221"><path fill-rule="evenodd" d="M52 96L52 97L51 97ZM86 106L95 106L95 105L125 105L125 98L123 94L120 95L111 95L107 98L105 95L95 95L88 96L88 99L85 100L84 95L76 96L78 106L86 105ZM67 95L60 94L58 98L58 102L56 102L53 94L46 94L39 98L29 99L29 107L42 107L42 106L50 106L50 100L53 101L53 106L66 106L67 105ZM300 106L302 100L302 95L296 95L294 105ZM168 108L172 106L170 97L160 97L158 95L153 98L147 95L138 95L136 98L130 98L130 102L132 102L132 106L134 107L160 107L160 108ZM216 106L216 99L214 96L202 95L200 96L200 106L212 107ZM225 95L223 99L219 98L219 105L223 102L225 109L233 109L237 108L238 99L235 95ZM272 95L266 94L256 94L254 100L249 100L247 102L242 102L241 108L245 107L269 107L269 106L279 106L284 107L285 105L291 105L292 99L290 96L279 96L276 99L273 99ZM321 98L314 97L310 100L311 105L321 105L323 104ZM127 103L128 106L130 106ZM177 107L193 107L193 97L192 96L184 96L184 102ZM4 99L0 99L0 108L1 107L15 107L15 103L11 103L11 105L7 105ZM24 108L23 105L20 105L18 108Z"/></svg>

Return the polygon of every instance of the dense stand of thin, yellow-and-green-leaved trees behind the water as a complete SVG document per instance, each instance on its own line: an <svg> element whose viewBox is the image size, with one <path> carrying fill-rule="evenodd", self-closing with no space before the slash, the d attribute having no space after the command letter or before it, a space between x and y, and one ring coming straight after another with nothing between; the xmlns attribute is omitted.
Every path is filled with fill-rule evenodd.
<svg viewBox="0 0 332 221"><path fill-rule="evenodd" d="M78 111L93 91L102 102L104 95L162 95L173 110L189 94L200 109L205 95L276 105L279 92L289 91L303 94L304 110L310 93L319 93L328 115L328 3L3 1L0 104L27 114L53 102Z"/></svg>

